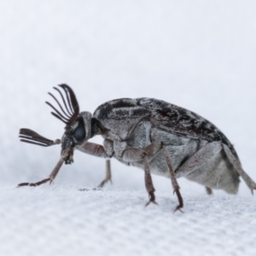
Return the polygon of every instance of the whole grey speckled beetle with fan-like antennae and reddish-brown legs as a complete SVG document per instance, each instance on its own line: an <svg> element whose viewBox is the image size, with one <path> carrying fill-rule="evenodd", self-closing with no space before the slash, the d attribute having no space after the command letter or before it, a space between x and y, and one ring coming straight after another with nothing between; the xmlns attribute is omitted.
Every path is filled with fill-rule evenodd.
<svg viewBox="0 0 256 256"><path fill-rule="evenodd" d="M67 84L54 89L63 104L49 93L59 106L51 112L66 124L63 136L49 140L30 129L20 129L20 141L49 147L61 143L61 159L50 173L38 183L20 183L38 186L52 183L63 163L73 163L74 149L106 159L107 174L98 186L111 181L110 159L115 158L127 166L144 170L149 203L155 203L151 173L171 178L178 205L174 212L182 212L183 197L178 177L212 189L223 189L230 194L238 191L240 176L247 187L256 189L256 183L241 168L241 162L229 139L215 125L197 113L154 98L121 98L105 102L91 114L80 112L73 90ZM64 93L61 92L64 91ZM88 142L101 135L103 145Z"/></svg>

